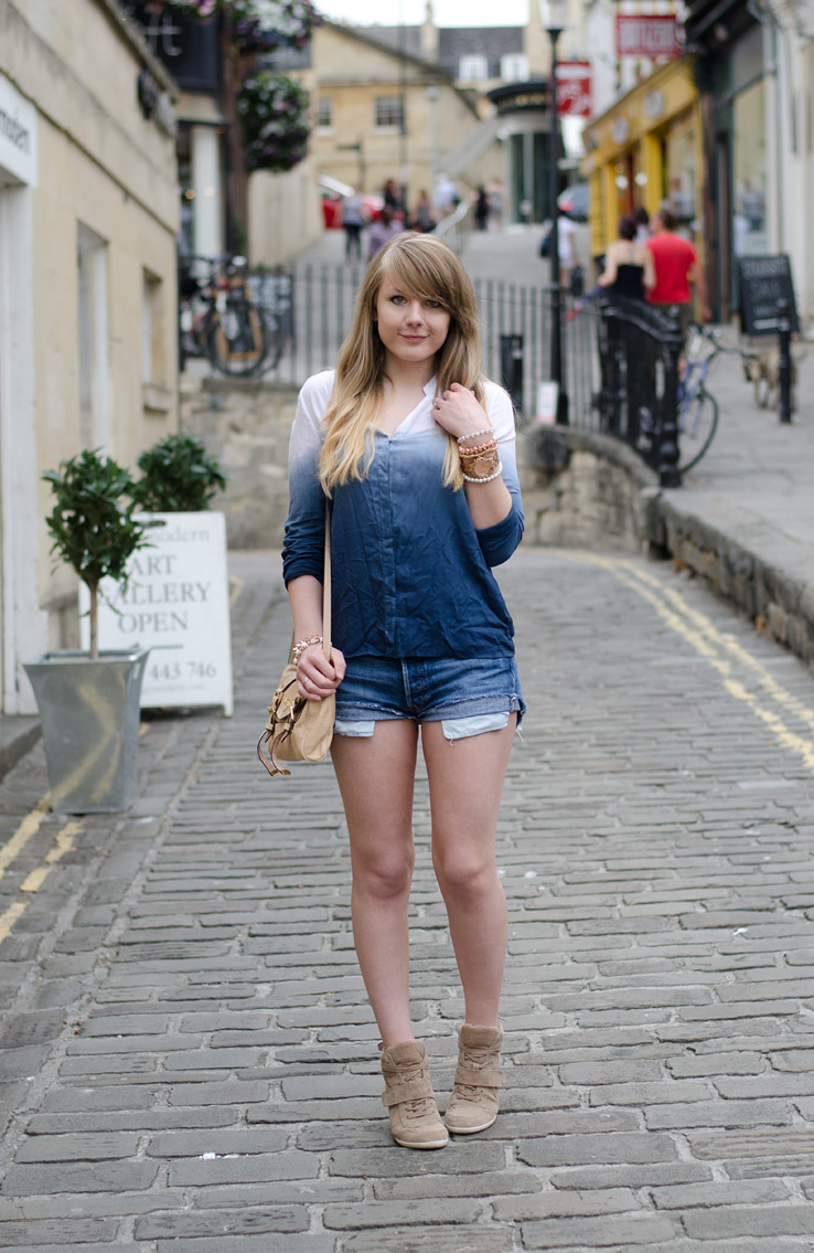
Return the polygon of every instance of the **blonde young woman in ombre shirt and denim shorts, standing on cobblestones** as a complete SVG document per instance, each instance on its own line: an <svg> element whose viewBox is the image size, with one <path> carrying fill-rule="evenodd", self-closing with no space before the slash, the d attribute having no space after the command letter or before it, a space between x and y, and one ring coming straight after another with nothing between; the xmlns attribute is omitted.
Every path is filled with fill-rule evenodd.
<svg viewBox="0 0 814 1253"><path fill-rule="evenodd" d="M491 573L522 535L513 412L482 378L472 284L435 236L397 236L373 258L336 371L301 392L289 474L293 655L302 695L337 697L331 756L351 838L353 938L382 1036L382 1099L398 1144L441 1148L447 1128L491 1126L503 1081L506 901L495 831L525 705ZM329 662L319 647L326 497ZM410 1016L420 736L466 1009L446 1126Z"/></svg>

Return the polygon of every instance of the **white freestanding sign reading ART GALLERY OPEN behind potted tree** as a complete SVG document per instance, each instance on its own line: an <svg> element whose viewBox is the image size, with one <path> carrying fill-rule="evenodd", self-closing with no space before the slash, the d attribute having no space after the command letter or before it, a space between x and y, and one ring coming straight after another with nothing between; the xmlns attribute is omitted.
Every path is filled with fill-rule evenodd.
<svg viewBox="0 0 814 1253"><path fill-rule="evenodd" d="M128 563L124 590L104 581L99 648L149 648L142 708L223 705L233 710L229 576L223 514L144 514L150 548ZM83 647L88 593L81 585Z"/></svg>

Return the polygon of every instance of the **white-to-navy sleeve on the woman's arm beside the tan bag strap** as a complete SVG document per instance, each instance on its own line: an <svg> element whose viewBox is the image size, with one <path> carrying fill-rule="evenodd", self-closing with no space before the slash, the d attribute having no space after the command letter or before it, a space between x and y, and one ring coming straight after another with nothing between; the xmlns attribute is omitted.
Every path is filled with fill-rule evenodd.
<svg viewBox="0 0 814 1253"><path fill-rule="evenodd" d="M288 517L283 539L283 579L324 570L326 494L319 484L322 419L333 390L333 371L303 385L288 445Z"/></svg>

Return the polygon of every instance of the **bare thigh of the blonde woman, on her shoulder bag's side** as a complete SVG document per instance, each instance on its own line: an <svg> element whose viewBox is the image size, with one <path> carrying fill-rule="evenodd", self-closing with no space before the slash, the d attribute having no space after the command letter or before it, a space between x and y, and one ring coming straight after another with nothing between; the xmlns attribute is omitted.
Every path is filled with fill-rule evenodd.
<svg viewBox="0 0 814 1253"><path fill-rule="evenodd" d="M383 719L371 737L334 736L331 758L348 822L352 857L376 861L394 845L412 847L418 728Z"/></svg>

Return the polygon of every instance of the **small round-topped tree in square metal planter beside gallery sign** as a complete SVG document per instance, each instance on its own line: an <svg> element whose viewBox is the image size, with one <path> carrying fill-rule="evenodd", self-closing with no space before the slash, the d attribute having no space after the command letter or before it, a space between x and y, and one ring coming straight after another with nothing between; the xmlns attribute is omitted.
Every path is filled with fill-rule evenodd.
<svg viewBox="0 0 814 1253"><path fill-rule="evenodd" d="M126 580L126 564L150 543L128 500L133 480L85 450L43 475L55 496L46 526L90 595L88 652L46 653L25 670L43 725L51 804L60 813L118 813L138 792L139 693L147 649L99 652L101 579Z"/></svg>

